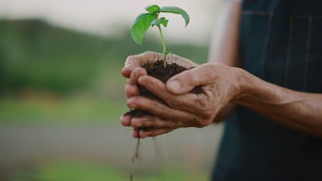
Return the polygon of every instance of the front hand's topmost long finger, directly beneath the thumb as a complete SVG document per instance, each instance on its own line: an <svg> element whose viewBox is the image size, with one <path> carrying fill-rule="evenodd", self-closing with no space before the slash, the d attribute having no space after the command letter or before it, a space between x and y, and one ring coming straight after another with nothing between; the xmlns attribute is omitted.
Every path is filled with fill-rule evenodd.
<svg viewBox="0 0 322 181"><path fill-rule="evenodd" d="M173 95L169 93L163 82L148 75L140 77L138 83L150 90L154 95L167 102L169 106L179 110L198 112L207 102L207 99L204 99L204 97L207 97L206 95L196 95L193 93Z"/></svg>

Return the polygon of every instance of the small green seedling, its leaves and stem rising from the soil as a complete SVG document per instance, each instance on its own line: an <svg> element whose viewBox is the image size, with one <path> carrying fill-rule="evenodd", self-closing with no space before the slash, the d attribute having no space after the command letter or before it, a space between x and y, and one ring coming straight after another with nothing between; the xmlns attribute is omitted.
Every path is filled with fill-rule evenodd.
<svg viewBox="0 0 322 181"><path fill-rule="evenodd" d="M142 13L132 23L131 27L131 36L133 40L138 43L142 44L142 39L144 34L147 32L149 27L157 26L160 31L160 37L161 37L161 43L162 43L162 49L163 49L163 64L164 67L167 65L166 57L171 51L169 51L164 43L164 36L162 34L161 25L164 27L167 27L169 20L162 17L159 18L159 15L161 12L168 12L173 14L181 14L184 18L184 21L186 22L186 25L188 25L190 18L189 15L182 10L181 8L173 7L173 6L164 6L160 8L158 5L148 5L147 8L145 8L148 13Z"/></svg>

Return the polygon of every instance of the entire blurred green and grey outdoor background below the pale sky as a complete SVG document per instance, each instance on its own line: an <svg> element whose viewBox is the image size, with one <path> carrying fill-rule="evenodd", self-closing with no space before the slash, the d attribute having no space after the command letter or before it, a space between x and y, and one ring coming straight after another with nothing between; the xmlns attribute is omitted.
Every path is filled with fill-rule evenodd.
<svg viewBox="0 0 322 181"><path fill-rule="evenodd" d="M118 36L0 17L0 180L208 180L221 128L144 140L131 164L136 140L119 123L128 110L120 70L127 56L162 47L153 34L136 45L129 24L112 29ZM206 43L167 44L207 60Z"/></svg>

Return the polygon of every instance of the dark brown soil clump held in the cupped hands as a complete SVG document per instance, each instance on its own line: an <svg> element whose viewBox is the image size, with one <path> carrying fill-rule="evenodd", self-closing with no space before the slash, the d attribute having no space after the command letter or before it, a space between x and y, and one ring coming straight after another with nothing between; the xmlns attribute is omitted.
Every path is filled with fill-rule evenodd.
<svg viewBox="0 0 322 181"><path fill-rule="evenodd" d="M181 73L182 71L189 70L175 63L173 64L167 63L167 66L164 67L163 60L158 60L154 64L145 64L143 68L147 70L148 75L155 77L164 83L166 83L174 75ZM138 85L138 88L140 90L140 95L147 97L149 99L158 100L161 103L166 104L158 96L154 95L149 90L147 90L147 88L144 88L143 86L140 86L140 85ZM204 93L204 90L202 90L201 86L197 86L193 88L193 90L191 90L191 93L200 94L200 93ZM150 115L150 113L145 112L143 110L132 109L129 112L125 113L125 115L131 115L131 117L143 117L145 115Z"/></svg>

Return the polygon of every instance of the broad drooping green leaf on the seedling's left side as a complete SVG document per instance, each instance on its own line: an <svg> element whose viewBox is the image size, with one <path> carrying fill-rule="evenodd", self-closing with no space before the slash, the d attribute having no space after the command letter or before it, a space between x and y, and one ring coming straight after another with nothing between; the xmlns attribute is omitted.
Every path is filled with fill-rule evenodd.
<svg viewBox="0 0 322 181"><path fill-rule="evenodd" d="M136 20L133 21L131 27L131 36L133 40L138 43L142 44L142 39L144 34L147 32L149 27L151 26L151 22L156 19L156 16L150 13L143 13L140 14Z"/></svg>

